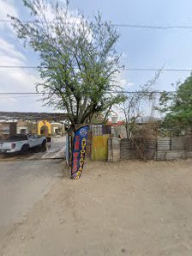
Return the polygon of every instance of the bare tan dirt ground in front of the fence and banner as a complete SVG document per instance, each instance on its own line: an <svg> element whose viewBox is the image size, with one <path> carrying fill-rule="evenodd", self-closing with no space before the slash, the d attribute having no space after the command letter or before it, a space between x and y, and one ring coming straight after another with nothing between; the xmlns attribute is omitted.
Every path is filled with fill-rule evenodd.
<svg viewBox="0 0 192 256"><path fill-rule="evenodd" d="M1 255L192 255L192 161L88 162L0 235Z"/></svg>

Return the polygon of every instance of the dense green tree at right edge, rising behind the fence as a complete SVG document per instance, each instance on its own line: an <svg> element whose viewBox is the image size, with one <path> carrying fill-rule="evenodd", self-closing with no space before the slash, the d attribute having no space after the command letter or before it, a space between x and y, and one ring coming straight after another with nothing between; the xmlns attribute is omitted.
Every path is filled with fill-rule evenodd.
<svg viewBox="0 0 192 256"><path fill-rule="evenodd" d="M161 95L159 110L165 113L165 127L192 127L192 75L185 82L177 83L175 93L164 92Z"/></svg>

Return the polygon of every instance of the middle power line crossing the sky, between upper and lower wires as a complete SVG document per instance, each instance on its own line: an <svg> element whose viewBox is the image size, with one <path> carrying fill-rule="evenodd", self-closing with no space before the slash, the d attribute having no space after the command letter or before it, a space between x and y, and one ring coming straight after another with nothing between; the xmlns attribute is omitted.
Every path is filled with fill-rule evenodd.
<svg viewBox="0 0 192 256"><path fill-rule="evenodd" d="M0 69L56 69L51 66L27 66L27 65L0 65ZM75 68L78 69L78 68ZM150 69L150 68L119 68L120 70L128 71L166 71L166 72L191 72L192 69Z"/></svg>

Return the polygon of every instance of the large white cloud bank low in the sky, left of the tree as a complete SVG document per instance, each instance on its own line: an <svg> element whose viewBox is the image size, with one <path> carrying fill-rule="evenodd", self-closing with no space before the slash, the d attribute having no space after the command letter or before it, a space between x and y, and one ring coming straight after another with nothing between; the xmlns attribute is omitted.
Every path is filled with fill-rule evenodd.
<svg viewBox="0 0 192 256"><path fill-rule="evenodd" d="M27 58L19 52L14 44L0 38L0 65L17 66L27 64ZM0 92L35 92L35 84L40 78L34 70L21 68L0 68ZM17 95L0 95L2 111L42 111L39 97L20 97ZM45 108L44 111L48 110Z"/></svg>

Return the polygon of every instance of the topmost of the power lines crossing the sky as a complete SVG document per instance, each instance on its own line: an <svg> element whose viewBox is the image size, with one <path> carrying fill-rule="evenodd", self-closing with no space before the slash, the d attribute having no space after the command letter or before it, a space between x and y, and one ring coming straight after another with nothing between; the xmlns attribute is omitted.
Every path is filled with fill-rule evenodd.
<svg viewBox="0 0 192 256"><path fill-rule="evenodd" d="M12 20L0 20L1 23L11 23ZM22 23L40 23L39 21L21 21ZM47 21L47 23L61 23L59 21ZM45 23L45 22L44 22ZM63 24L63 23L62 23ZM66 22L66 24L70 24ZM73 25L74 23L71 22ZM185 25L172 25L172 26L154 26L154 25L140 25L140 24L126 24L126 23L113 23L114 27L129 27L129 28L144 28L144 29L159 29L159 30L171 30L171 29L192 29L192 26L185 26Z"/></svg>

